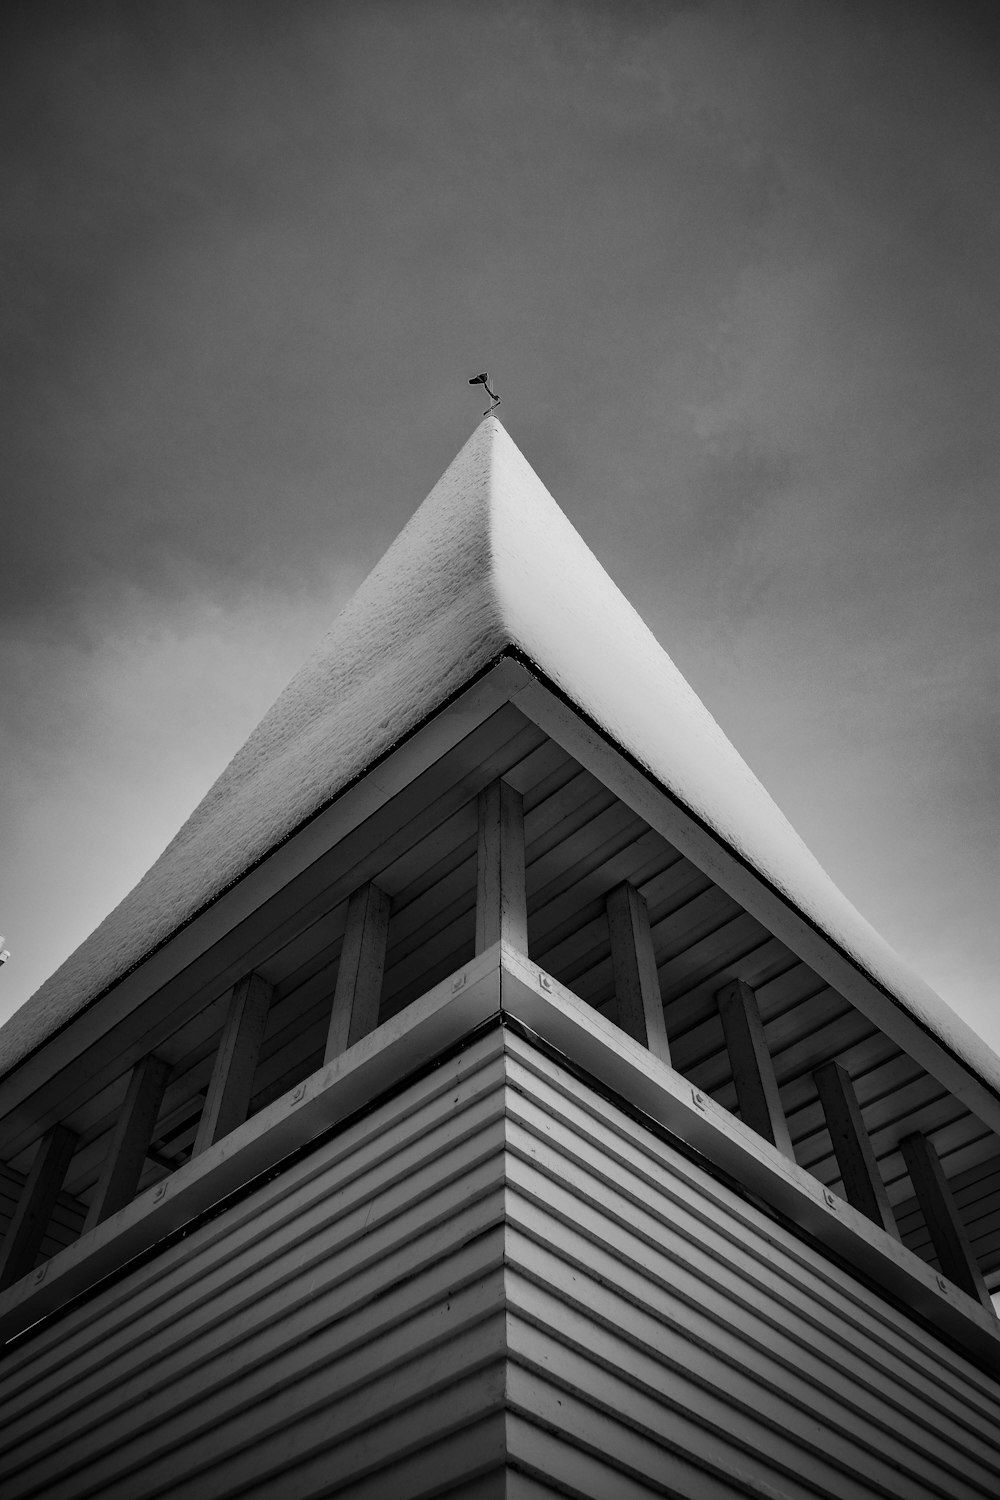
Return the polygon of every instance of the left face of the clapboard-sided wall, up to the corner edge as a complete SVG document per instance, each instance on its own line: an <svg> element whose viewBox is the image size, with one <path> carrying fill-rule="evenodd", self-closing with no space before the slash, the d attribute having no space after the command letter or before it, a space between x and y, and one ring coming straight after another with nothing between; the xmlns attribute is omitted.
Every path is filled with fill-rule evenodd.
<svg viewBox="0 0 1000 1500"><path fill-rule="evenodd" d="M496 1486L502 1182L493 1034L12 1346L4 1500Z"/></svg>

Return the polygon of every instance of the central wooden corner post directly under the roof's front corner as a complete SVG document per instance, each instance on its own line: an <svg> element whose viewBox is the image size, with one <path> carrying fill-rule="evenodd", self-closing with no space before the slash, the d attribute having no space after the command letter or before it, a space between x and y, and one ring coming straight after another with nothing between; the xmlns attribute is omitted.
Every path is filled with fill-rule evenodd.
<svg viewBox="0 0 1000 1500"><path fill-rule="evenodd" d="M492 782L478 801L480 849L475 896L475 951L505 942L528 952L525 819L520 792Z"/></svg>

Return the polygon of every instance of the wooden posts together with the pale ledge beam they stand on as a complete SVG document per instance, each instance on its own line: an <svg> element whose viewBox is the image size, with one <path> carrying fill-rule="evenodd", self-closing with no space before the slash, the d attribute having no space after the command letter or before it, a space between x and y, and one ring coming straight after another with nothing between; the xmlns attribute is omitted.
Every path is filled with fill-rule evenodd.
<svg viewBox="0 0 1000 1500"><path fill-rule="evenodd" d="M936 1288L942 1306L948 1308L942 1318L952 1334L955 1306L963 1312L963 1299L955 1302L954 1288L993 1316L984 1276L927 1134L907 1134L900 1149L930 1232L939 1274L900 1244L852 1078L838 1060L825 1062L814 1078L844 1200L819 1182L813 1188L804 1186L808 1174L795 1162L751 984L735 978L717 993L739 1112L736 1122L672 1066L649 912L642 892L628 882L606 892L615 999L612 1012L600 1018L601 1026L588 1030L585 1004L553 976L537 970L529 958L522 798L508 782L495 780L480 792L477 825L475 954L471 962L379 1028L391 902L376 880L361 885L348 902L322 1068L249 1119L271 986L258 972L244 975L228 998L189 1158L136 1200L150 1156L166 1170L153 1142L169 1066L157 1053L150 1053L130 1071L124 1102L85 1208L81 1239L57 1252L49 1264L39 1264L46 1226L76 1146L66 1122L48 1130L3 1242L0 1288L6 1292L0 1294L0 1330L9 1334L52 1311L115 1264L151 1246L163 1233L184 1222L184 1215L190 1218L204 1212L261 1170L273 1168L289 1150L300 1149L318 1131L331 1128L351 1110L369 1102L388 1082L429 1064L471 1026L504 1010L525 1024L541 1026L549 1032L552 1046L565 1044L571 1060L591 1071L604 1068L600 1048L610 1048L616 1062L615 1066L607 1064L610 1072L604 1082L616 1082L622 1089L640 1088L642 1100L633 1102L646 1110L652 1110L651 1098L658 1100L661 1122L667 1128L676 1128L681 1138L706 1155L724 1158L726 1170L738 1182L744 1180L748 1191L760 1194L763 1184L765 1196L772 1192L781 1198L778 1206L783 1212L789 1212L787 1192L792 1190L787 1184L810 1204L817 1203L828 1210L837 1210L838 1203L846 1200L876 1230L874 1236L861 1236L864 1252L858 1250L858 1263L871 1274L873 1254L882 1256L889 1268L888 1284L897 1293L901 1286L916 1287L919 1294L906 1296L919 1302L925 1314L927 1292ZM526 998L520 1011L517 1004L501 998L504 975L520 976L520 993ZM475 1002L471 999L474 994ZM592 1014L597 1017L597 1012ZM618 1028L618 1034L607 1022ZM628 1044L615 1041L622 1032L631 1038ZM639 1072L634 1044L648 1054ZM574 1056L571 1047L582 1048L586 1056ZM649 1089L654 1089L652 1095ZM660 1092L655 1094L655 1089ZM699 1116L709 1124L699 1125ZM753 1149L747 1144L750 1132L759 1142ZM781 1160L789 1170L781 1168ZM741 1170L733 1170L735 1166ZM813 1224L813 1209L804 1209L804 1214ZM804 1221L802 1214L792 1214L792 1218ZM838 1230L838 1252L843 1252L844 1244L861 1244L859 1221L855 1215L849 1220L855 1227L847 1240ZM906 1269L910 1262L913 1266L903 1275L898 1268L903 1264ZM969 1314L970 1308L964 1306L964 1316ZM982 1312L975 1317L975 1324L979 1341L985 1340L984 1347L993 1347L993 1340L1000 1350L996 1329L987 1326Z"/></svg>

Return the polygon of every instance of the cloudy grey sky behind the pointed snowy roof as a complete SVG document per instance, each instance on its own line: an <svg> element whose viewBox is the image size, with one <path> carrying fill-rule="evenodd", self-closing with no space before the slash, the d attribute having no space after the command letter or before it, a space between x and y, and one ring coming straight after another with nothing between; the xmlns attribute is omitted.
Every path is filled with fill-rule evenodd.
<svg viewBox="0 0 1000 1500"><path fill-rule="evenodd" d="M499 416L1000 1048L990 4L4 12L0 1016Z"/></svg>

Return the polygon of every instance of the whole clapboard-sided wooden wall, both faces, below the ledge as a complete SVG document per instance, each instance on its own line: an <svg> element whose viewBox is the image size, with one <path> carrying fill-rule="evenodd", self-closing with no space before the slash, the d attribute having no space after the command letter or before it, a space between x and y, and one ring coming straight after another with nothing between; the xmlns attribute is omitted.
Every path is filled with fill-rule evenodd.
<svg viewBox="0 0 1000 1500"><path fill-rule="evenodd" d="M999 1430L997 1382L499 1032L0 1360L4 1500L996 1500Z"/></svg>

